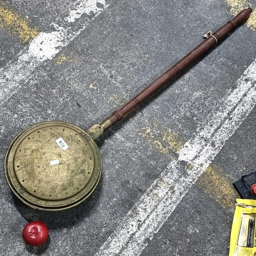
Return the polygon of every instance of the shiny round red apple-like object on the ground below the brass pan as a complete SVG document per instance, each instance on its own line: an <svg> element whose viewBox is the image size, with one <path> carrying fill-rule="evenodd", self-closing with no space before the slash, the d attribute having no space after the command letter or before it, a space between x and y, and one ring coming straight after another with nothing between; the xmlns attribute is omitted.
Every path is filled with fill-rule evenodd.
<svg viewBox="0 0 256 256"><path fill-rule="evenodd" d="M32 221L22 231L22 238L27 245L40 246L44 244L49 236L49 230L45 223Z"/></svg>

